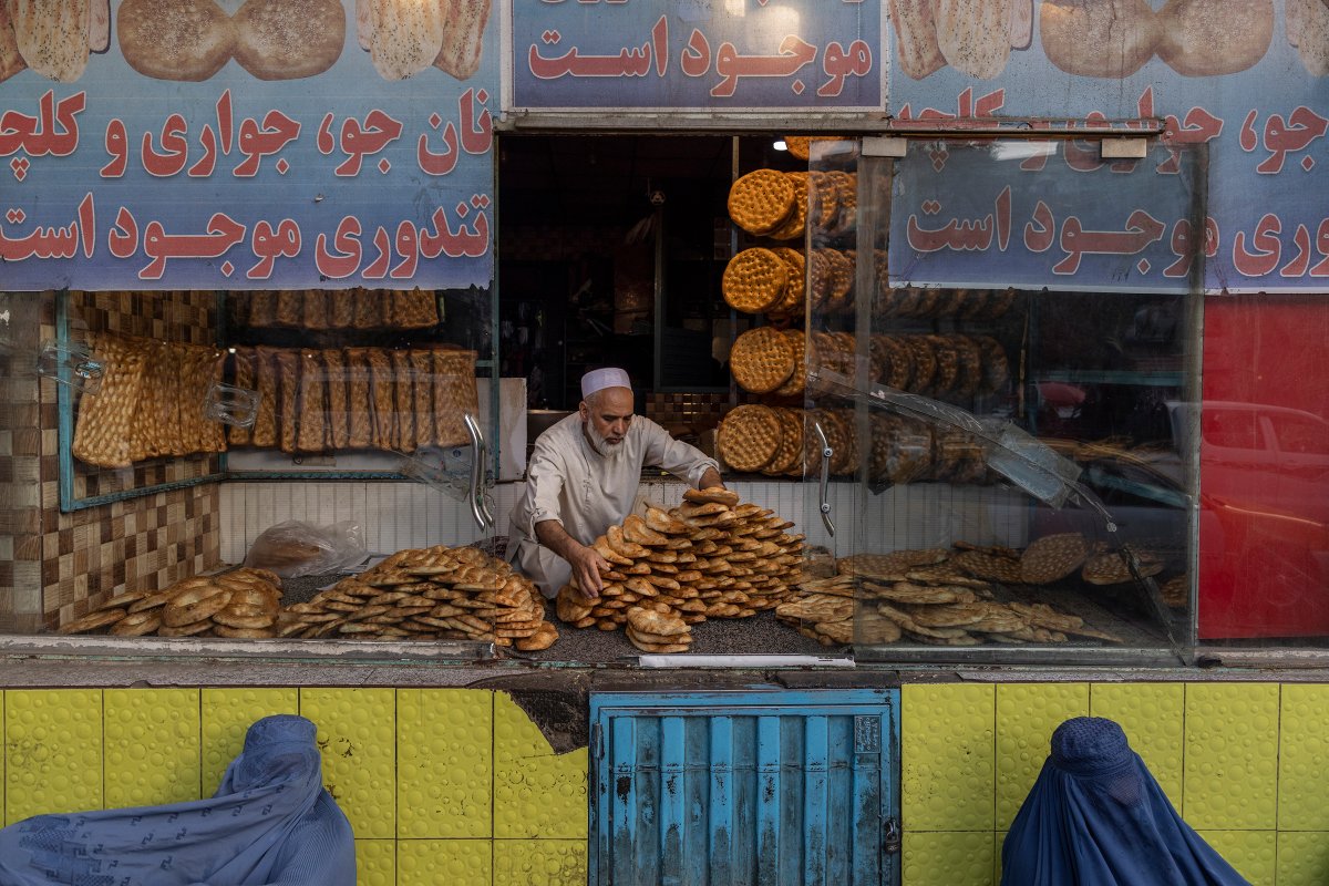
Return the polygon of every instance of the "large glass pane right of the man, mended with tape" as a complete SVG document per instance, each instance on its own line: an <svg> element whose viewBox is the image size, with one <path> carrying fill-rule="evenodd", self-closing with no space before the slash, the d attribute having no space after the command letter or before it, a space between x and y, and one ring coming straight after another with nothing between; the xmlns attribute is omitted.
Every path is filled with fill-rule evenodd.
<svg viewBox="0 0 1329 886"><path fill-rule="evenodd" d="M807 511L829 506L857 575L856 654L1171 655L1191 630L1193 458L1170 404L1196 387L1193 158L864 149L813 142L809 205L839 209L808 235L853 262L839 299L809 268L808 421L856 454Z"/></svg>

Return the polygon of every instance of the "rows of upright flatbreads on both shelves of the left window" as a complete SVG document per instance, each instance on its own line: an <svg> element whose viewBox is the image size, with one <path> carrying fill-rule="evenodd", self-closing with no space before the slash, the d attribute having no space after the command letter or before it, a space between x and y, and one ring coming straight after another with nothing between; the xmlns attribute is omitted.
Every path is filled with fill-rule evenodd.
<svg viewBox="0 0 1329 886"><path fill-rule="evenodd" d="M114 469L237 449L396 456L469 444L462 417L480 414L477 355L429 340L440 319L433 292L251 292L227 308L229 337L280 329L328 347L89 333L105 375L73 405L73 457ZM375 333L393 344L358 344ZM226 397L249 408L227 412Z"/></svg>

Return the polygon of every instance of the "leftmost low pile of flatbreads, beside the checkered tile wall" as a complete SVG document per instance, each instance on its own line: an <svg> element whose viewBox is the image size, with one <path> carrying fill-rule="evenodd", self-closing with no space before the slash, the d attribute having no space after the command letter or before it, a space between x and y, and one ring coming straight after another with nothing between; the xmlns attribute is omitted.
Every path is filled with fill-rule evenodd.
<svg viewBox="0 0 1329 886"><path fill-rule="evenodd" d="M279 634L282 579L262 569L194 576L161 591L112 596L61 634L116 636L219 636L262 639Z"/></svg>

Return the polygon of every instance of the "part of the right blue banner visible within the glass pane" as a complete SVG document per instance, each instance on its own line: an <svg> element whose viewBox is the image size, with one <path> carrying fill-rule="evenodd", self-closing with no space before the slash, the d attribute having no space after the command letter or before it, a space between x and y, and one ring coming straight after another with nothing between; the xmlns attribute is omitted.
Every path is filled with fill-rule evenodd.
<svg viewBox="0 0 1329 886"><path fill-rule="evenodd" d="M1195 151L913 139L892 179L890 284L1184 292L1197 181Z"/></svg>

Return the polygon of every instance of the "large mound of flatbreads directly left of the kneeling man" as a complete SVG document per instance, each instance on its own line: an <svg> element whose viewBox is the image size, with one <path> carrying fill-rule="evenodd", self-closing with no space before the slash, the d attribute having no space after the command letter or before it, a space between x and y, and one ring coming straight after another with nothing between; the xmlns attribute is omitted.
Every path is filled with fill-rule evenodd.
<svg viewBox="0 0 1329 886"><path fill-rule="evenodd" d="M558 639L530 579L476 547L445 545L397 551L284 607L278 624L282 636L472 640L524 652Z"/></svg>

